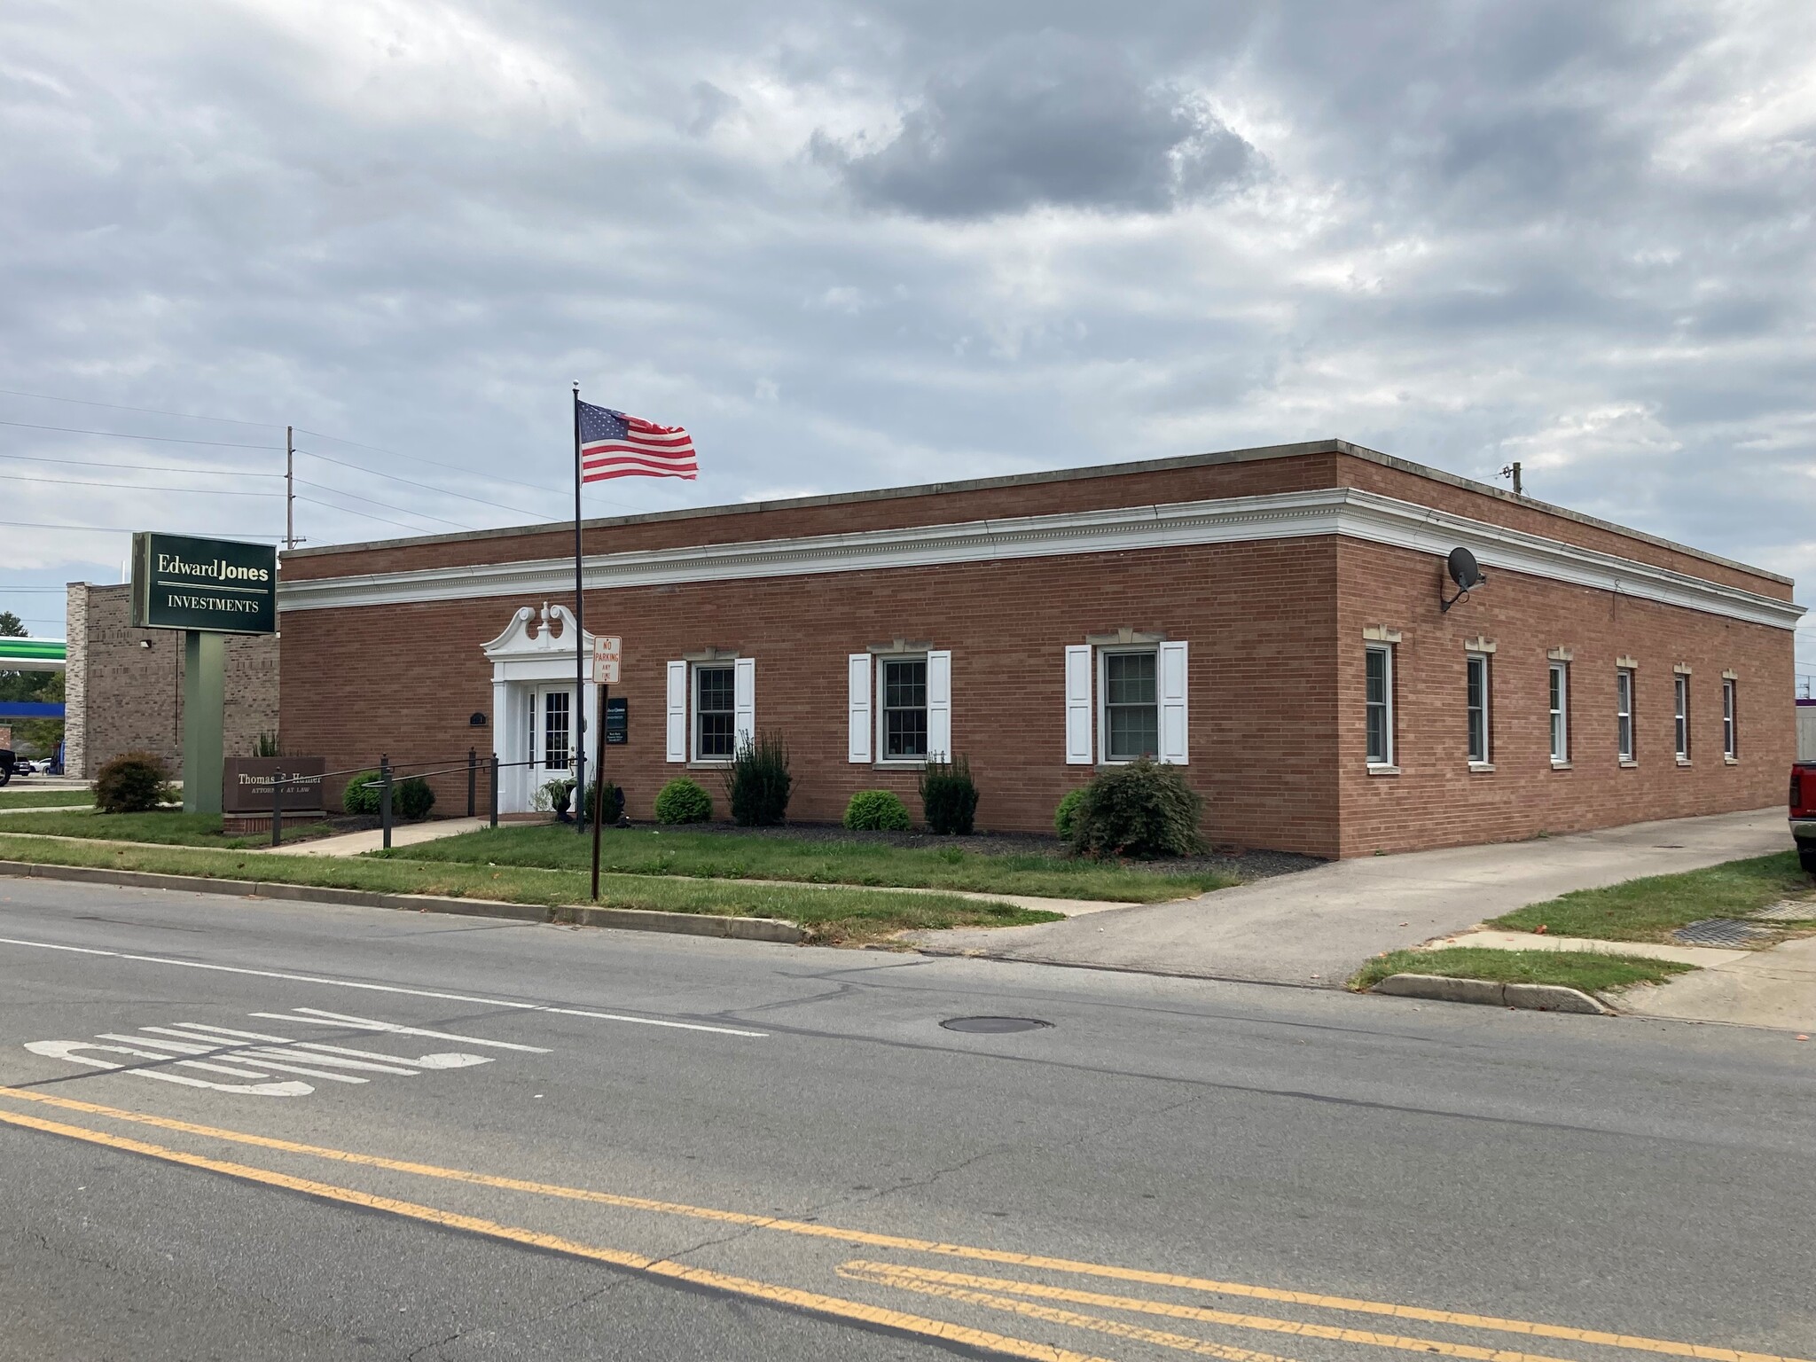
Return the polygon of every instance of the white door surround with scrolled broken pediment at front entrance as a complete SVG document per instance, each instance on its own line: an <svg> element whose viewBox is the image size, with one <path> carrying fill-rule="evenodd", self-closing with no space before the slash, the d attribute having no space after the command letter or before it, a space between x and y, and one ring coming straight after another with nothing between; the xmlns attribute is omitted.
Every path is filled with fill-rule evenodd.
<svg viewBox="0 0 1816 1362"><path fill-rule="evenodd" d="M565 605L525 605L510 625L485 645L492 663L492 752L503 763L498 774L498 812L527 814L538 786L574 774L574 741L581 725L574 723L574 612ZM583 656L592 654L592 634L581 634ZM547 765L548 694L567 694L567 741L561 766ZM597 708L597 688L588 681L581 716ZM559 703L558 703L558 708ZM587 728L592 725L587 723ZM559 721L558 734L559 739ZM518 763L534 761L534 766Z"/></svg>

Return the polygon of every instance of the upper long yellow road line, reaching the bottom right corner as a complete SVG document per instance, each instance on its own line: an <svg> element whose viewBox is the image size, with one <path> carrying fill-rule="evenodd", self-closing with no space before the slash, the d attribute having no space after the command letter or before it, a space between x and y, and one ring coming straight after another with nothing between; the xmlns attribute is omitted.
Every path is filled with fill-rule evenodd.
<svg viewBox="0 0 1816 1362"><path fill-rule="evenodd" d="M1331 1297L1315 1291L1289 1291L1271 1286L1251 1286L1246 1282L1222 1282L1208 1277L1186 1277L1180 1273L1148 1271L1142 1268L1119 1268L1113 1264L1082 1262L1077 1258L1053 1258L1039 1253L1010 1253L1004 1249L973 1248L968 1244L943 1244L933 1239L912 1239L906 1235L879 1235L866 1229L844 1229L828 1224L810 1224L806 1220L786 1220L768 1215L748 1215L745 1211L723 1211L710 1206L686 1206L683 1202L650 1200L646 1197L627 1197L612 1191L592 1191L588 1188L567 1188L552 1182L530 1182L494 1173L474 1173L459 1168L441 1168L436 1164L418 1164L403 1159L387 1159L372 1153L354 1153L350 1150L332 1150L320 1144L298 1144L296 1140L272 1139L269 1135L251 1135L218 1126L198 1126L173 1117L154 1117L143 1111L125 1111L98 1102L84 1102L74 1097L53 1097L51 1093L25 1091L22 1088L0 1086L0 1099L25 1102L44 1102L67 1111L85 1111L107 1117L109 1120L127 1120L160 1130L202 1135L232 1144L251 1144L280 1153L298 1153L311 1159L329 1159L363 1168L383 1168L394 1173L416 1177L434 1177L450 1182L469 1182L501 1191L525 1191L538 1197L556 1197L563 1200L590 1202L596 1206L616 1206L630 1211L652 1211L657 1215L683 1215L696 1220L716 1220L719 1224L752 1226L785 1235L803 1235L806 1239L830 1239L863 1248L888 1248L908 1253L933 1253L970 1262L990 1262L1006 1268L1031 1268L1041 1271L1077 1273L1081 1277L1104 1277L1117 1282L1137 1282L1142 1286L1166 1286L1180 1291L1206 1291L1211 1295L1244 1297L1249 1300L1271 1300L1288 1306L1308 1306L1313 1309L1347 1311L1353 1315L1386 1315L1391 1318L1418 1320L1420 1324L1453 1324L1462 1329L1491 1329L1496 1333L1516 1333L1531 1338L1562 1338L1576 1344L1598 1344L1604 1347L1625 1347L1638 1353L1660 1353L1665 1357L1689 1357L1698 1362L1803 1362L1803 1358L1783 1357L1780 1353L1747 1353L1734 1347L1714 1347L1709 1344L1685 1344L1671 1338L1649 1338L1645 1335L1607 1333L1602 1329L1576 1329L1565 1324L1538 1324L1535 1320L1502 1318L1498 1315L1469 1315L1466 1311L1431 1309L1427 1306L1400 1306L1387 1300L1362 1300L1355 1297Z"/></svg>

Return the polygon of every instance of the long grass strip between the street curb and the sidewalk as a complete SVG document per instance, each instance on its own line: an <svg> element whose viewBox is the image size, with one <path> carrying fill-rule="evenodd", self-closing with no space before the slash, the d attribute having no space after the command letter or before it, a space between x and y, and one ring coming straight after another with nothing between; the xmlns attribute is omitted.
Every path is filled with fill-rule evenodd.
<svg viewBox="0 0 1816 1362"><path fill-rule="evenodd" d="M574 834L568 834L570 837ZM579 841L576 837L576 841ZM485 864L423 864L401 859L260 855L187 846L100 846L80 841L16 837L0 832L0 861L58 866L107 866L209 879L263 879L380 893L434 893L547 906L585 904L588 877L572 870L519 870ZM817 944L861 944L910 928L1022 926L1053 923L1059 913L941 893L888 893L854 888L772 888L726 881L670 881L603 875L599 904L668 913L777 917L799 923Z"/></svg>

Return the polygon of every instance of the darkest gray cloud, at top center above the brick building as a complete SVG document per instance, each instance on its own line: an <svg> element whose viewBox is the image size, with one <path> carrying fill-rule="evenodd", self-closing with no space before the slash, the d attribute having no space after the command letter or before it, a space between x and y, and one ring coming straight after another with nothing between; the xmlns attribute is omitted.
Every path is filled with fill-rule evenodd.
<svg viewBox="0 0 1816 1362"><path fill-rule="evenodd" d="M875 151L819 131L859 202L924 218L1030 207L1155 212L1240 183L1255 151L1200 102L1075 35L1017 35L926 82Z"/></svg>

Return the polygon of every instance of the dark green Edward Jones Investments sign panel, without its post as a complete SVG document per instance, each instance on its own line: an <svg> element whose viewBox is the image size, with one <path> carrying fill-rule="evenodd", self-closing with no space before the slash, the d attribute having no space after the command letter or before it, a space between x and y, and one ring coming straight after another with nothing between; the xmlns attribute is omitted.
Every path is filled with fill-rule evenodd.
<svg viewBox="0 0 1816 1362"><path fill-rule="evenodd" d="M182 534L133 536L133 623L214 634L278 630L278 550Z"/></svg>

